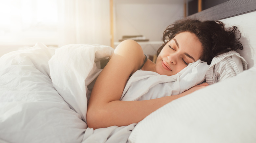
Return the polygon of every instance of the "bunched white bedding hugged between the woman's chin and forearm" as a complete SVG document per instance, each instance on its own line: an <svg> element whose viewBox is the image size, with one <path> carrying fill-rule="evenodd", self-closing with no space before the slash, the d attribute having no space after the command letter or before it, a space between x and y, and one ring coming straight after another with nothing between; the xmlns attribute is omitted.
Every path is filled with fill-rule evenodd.
<svg viewBox="0 0 256 143"><path fill-rule="evenodd" d="M149 100L181 94L202 83L208 68L206 62L198 60L172 76L138 70L128 80L121 100Z"/></svg>

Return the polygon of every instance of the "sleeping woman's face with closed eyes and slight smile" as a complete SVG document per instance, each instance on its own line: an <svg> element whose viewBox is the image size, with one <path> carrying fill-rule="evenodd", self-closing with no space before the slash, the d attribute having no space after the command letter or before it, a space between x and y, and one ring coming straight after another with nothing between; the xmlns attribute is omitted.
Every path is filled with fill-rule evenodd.
<svg viewBox="0 0 256 143"><path fill-rule="evenodd" d="M156 72L168 76L177 74L189 63L197 61L202 52L202 43L195 34L190 32L177 34L158 55Z"/></svg>

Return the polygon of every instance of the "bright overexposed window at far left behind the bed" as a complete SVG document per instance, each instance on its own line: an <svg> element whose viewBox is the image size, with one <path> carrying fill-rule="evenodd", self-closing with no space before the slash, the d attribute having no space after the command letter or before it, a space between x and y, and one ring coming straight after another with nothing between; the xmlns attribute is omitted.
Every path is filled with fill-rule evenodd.
<svg viewBox="0 0 256 143"><path fill-rule="evenodd" d="M57 0L1 0L0 45L54 45Z"/></svg>

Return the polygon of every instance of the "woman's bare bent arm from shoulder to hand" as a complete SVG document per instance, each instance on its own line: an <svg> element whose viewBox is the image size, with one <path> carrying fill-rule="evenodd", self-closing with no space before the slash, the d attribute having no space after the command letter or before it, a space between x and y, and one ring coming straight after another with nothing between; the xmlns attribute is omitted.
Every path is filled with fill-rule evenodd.
<svg viewBox="0 0 256 143"><path fill-rule="evenodd" d="M92 90L86 116L88 127L96 129L138 123L164 104L193 92L190 89L180 95L158 99L119 101L129 75L139 69L143 58L137 42L126 40L118 45Z"/></svg>

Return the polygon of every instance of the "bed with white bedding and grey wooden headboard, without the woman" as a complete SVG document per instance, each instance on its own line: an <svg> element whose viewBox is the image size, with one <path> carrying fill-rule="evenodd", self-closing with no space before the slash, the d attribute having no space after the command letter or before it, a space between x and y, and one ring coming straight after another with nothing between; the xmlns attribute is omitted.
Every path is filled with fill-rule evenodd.
<svg viewBox="0 0 256 143"><path fill-rule="evenodd" d="M72 44L55 49L37 43L2 56L0 142L256 142L255 8L254 0L231 0L191 16L238 26L244 49L237 52L248 70L128 126L93 130L85 122L100 61L113 53L111 47Z"/></svg>

